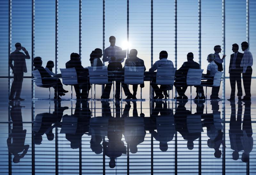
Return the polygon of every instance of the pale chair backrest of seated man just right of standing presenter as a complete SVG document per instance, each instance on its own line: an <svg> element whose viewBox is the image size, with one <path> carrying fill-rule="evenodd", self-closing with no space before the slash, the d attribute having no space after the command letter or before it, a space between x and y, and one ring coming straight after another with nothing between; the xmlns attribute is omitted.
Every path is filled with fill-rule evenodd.
<svg viewBox="0 0 256 175"><path fill-rule="evenodd" d="M143 84L144 67L124 66L124 83L125 84Z"/></svg>

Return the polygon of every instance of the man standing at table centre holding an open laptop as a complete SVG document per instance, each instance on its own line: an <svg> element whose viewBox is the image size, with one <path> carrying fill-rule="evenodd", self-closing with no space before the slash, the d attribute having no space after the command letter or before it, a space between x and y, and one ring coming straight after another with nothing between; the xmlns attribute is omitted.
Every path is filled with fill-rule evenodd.
<svg viewBox="0 0 256 175"><path fill-rule="evenodd" d="M105 49L103 54L103 62L108 61L108 71L121 71L123 66L122 62L124 62L124 58L116 58L116 52L122 51L121 47L116 46L116 37L110 36L109 37L110 46ZM116 81L116 94L115 98L120 99L120 83L121 81ZM110 84L111 85L111 84ZM109 99L109 94L111 91L111 86L106 85L105 90L101 96L102 99Z"/></svg>

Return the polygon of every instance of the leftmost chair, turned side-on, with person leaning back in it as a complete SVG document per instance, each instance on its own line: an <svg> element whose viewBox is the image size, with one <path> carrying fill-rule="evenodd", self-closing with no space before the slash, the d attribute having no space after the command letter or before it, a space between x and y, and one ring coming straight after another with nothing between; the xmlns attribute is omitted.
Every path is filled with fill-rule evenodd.
<svg viewBox="0 0 256 175"><path fill-rule="evenodd" d="M54 77L47 77L47 78L42 78L41 74L39 72L39 70L33 70L32 74L35 78L32 78L32 81L35 81L36 86L38 87L44 87L44 88L49 88L49 99L51 99L51 90L50 87L55 86L58 83L58 78L54 78ZM51 83L51 84L43 84L42 80L49 80L49 79L55 79L56 83ZM57 86L57 93L58 93L58 86Z"/></svg>

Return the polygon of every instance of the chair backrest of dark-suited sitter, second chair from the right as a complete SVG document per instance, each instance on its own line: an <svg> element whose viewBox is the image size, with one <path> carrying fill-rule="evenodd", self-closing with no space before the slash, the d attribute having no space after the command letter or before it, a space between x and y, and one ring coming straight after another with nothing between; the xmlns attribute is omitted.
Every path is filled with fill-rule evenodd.
<svg viewBox="0 0 256 175"><path fill-rule="evenodd" d="M187 85L199 86L201 84L201 78L204 69L188 69Z"/></svg>

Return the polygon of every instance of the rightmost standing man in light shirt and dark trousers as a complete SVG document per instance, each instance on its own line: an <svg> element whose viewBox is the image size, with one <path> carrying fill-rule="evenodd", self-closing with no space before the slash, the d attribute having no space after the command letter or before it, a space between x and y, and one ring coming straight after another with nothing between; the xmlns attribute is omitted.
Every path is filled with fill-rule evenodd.
<svg viewBox="0 0 256 175"><path fill-rule="evenodd" d="M242 100L251 100L251 81L252 81L252 53L248 50L249 44L247 42L241 43L244 56L241 61L241 67L243 68L243 83L245 96Z"/></svg>

